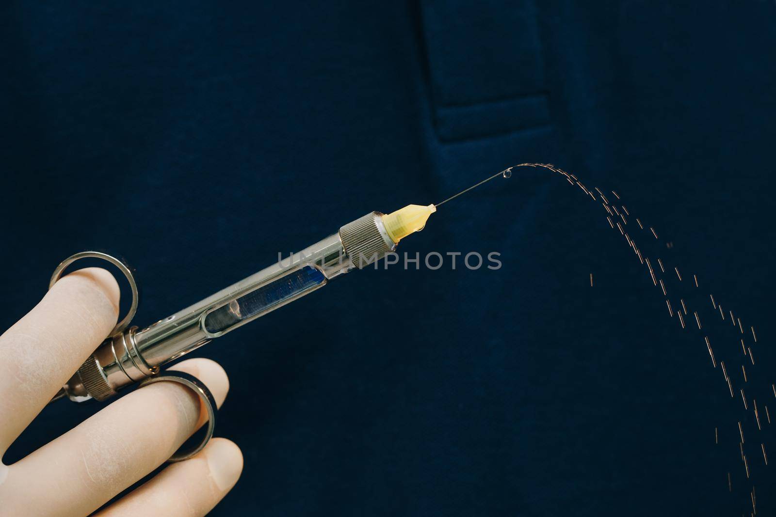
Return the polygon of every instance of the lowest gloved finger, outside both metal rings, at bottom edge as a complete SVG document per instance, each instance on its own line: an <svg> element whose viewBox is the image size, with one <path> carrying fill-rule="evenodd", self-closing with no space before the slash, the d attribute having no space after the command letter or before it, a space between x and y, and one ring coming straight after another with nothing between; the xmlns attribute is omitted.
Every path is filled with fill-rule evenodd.
<svg viewBox="0 0 776 517"><path fill-rule="evenodd" d="M242 453L234 443L223 438L212 439L192 459L165 468L96 515L206 515L237 483L242 466Z"/></svg>

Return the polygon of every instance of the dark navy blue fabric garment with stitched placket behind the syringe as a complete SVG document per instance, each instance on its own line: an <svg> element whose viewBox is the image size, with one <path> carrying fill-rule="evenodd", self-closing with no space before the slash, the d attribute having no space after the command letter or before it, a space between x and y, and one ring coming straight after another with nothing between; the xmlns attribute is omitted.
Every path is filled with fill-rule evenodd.
<svg viewBox="0 0 776 517"><path fill-rule="evenodd" d="M771 343L774 109L766 0L6 3L0 327L78 250L137 267L147 325L539 161L618 191ZM196 352L245 457L215 515L747 511L719 371L578 188L516 171L400 250L504 267L349 274ZM99 407L50 406L5 461Z"/></svg>

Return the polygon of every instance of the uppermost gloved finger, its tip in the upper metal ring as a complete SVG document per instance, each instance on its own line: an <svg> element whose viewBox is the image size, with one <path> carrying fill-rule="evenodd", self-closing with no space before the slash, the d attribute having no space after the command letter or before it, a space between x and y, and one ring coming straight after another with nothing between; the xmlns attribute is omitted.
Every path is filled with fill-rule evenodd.
<svg viewBox="0 0 776 517"><path fill-rule="evenodd" d="M62 277L0 336L0 457L116 325L119 285L104 269Z"/></svg>

